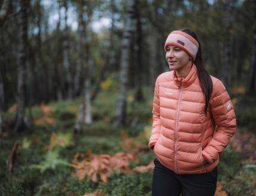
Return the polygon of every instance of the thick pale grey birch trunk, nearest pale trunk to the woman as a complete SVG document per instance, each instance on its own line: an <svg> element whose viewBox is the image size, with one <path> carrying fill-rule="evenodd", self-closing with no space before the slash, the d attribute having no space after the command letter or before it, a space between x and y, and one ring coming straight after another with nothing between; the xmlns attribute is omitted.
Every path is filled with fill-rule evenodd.
<svg viewBox="0 0 256 196"><path fill-rule="evenodd" d="M126 1L127 14L124 24L123 40L121 44L121 62L119 71L119 94L117 99L117 108L115 111L114 126L117 127L124 124L126 116L126 88L128 83L129 57L130 57L130 43L132 42L132 33L135 29L133 23L133 15L135 13L135 2L133 0Z"/></svg>

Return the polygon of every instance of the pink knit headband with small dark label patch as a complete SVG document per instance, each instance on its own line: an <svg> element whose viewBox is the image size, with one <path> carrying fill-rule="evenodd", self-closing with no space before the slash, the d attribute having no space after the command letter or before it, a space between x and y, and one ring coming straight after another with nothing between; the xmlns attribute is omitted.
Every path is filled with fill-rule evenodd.
<svg viewBox="0 0 256 196"><path fill-rule="evenodd" d="M188 33L184 33L183 31L179 30L172 31L166 39L164 50L166 50L168 45L174 45L185 50L189 54L189 56L193 58L193 61L195 61L199 44L195 40L195 38L193 38Z"/></svg>

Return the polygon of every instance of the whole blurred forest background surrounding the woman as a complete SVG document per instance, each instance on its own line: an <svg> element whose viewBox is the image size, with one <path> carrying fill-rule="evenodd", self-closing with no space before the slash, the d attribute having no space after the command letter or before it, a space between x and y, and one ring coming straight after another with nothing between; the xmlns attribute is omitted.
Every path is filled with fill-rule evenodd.
<svg viewBox="0 0 256 196"><path fill-rule="evenodd" d="M0 0L0 192L151 195L164 43L195 31L238 130L216 195L256 195L255 0Z"/></svg>

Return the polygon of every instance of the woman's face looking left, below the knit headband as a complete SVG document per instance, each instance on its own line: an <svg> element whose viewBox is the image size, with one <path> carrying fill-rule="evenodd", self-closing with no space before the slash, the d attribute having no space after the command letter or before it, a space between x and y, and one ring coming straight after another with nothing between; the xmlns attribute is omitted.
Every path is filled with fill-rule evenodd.
<svg viewBox="0 0 256 196"><path fill-rule="evenodd" d="M184 50L172 45L167 46L166 50L166 61L170 69L181 71L191 66L192 58Z"/></svg>

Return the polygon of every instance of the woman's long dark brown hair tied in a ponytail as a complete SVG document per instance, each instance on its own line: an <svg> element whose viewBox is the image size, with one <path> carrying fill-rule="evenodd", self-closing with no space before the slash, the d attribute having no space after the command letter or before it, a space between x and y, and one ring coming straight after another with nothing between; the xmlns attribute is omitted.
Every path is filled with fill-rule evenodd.
<svg viewBox="0 0 256 196"><path fill-rule="evenodd" d="M204 94L204 100L205 100L204 110L206 115L211 93L213 92L213 81L211 80L210 74L205 69L204 64L202 62L201 44L196 34L190 29L179 29L179 30L183 31L184 33L188 33L193 38L195 38L196 41L199 43L198 52L196 53L196 58L195 58L195 61L193 61L193 63L196 65L198 79L200 82L200 86L202 88L202 93Z"/></svg>

